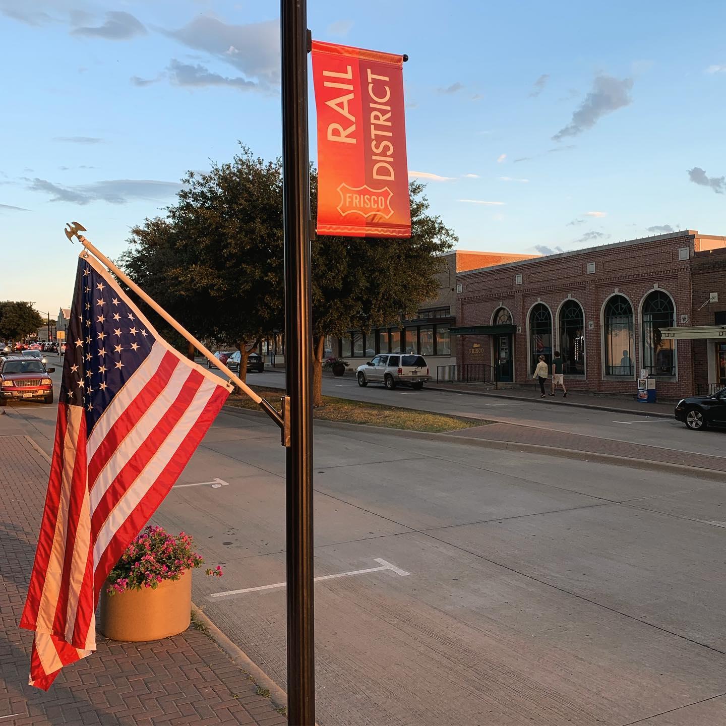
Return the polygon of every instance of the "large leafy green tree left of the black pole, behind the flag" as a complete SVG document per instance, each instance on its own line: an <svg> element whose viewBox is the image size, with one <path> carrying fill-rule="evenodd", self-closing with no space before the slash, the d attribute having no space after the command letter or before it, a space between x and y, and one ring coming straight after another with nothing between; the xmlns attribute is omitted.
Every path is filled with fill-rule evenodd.
<svg viewBox="0 0 726 726"><path fill-rule="evenodd" d="M242 146L208 174L189 171L166 212L131 230L121 265L197 338L234 345L245 380L250 351L283 322L280 161Z"/></svg>

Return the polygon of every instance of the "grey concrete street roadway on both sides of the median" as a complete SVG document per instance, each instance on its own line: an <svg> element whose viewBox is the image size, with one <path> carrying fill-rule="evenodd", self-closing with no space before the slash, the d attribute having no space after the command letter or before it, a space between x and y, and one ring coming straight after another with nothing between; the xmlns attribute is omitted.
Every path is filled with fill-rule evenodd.
<svg viewBox="0 0 726 726"><path fill-rule="evenodd" d="M338 383L492 417L477 396L326 387ZM560 414L503 402L502 415ZM51 448L52 407L7 410ZM563 414L600 431L620 418ZM723 436L653 426L703 446ZM315 432L322 726L726 722L726 484L435 435ZM285 580L284 467L264 415L225 411L157 517L223 566L196 578L195 602L283 687L285 592L269 586Z"/></svg>

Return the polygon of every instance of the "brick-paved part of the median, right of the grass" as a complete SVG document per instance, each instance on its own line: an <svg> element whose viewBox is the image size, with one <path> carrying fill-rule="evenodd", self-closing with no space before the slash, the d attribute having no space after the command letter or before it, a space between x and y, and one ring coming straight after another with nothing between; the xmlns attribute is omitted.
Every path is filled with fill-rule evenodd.
<svg viewBox="0 0 726 726"><path fill-rule="evenodd" d="M599 436L584 436L579 433L552 431L551 429L521 426L510 423L492 423L487 426L465 428L452 436L470 436L489 441L508 441L513 444L536 444L553 449L569 449L592 454L611 454L623 459L665 462L693 466L699 469L726 471L726 456L709 456L673 451L661 446L630 444L627 441L601 439ZM725 452L726 454L726 452Z"/></svg>

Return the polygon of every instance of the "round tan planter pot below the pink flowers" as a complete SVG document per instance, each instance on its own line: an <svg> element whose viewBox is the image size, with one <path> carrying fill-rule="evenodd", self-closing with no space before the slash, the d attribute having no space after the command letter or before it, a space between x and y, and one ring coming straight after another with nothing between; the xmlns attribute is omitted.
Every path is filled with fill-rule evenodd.
<svg viewBox="0 0 726 726"><path fill-rule="evenodd" d="M189 627L192 613L192 571L178 580L160 582L155 590L126 590L108 595L101 590L98 629L111 640L135 643L178 635Z"/></svg>

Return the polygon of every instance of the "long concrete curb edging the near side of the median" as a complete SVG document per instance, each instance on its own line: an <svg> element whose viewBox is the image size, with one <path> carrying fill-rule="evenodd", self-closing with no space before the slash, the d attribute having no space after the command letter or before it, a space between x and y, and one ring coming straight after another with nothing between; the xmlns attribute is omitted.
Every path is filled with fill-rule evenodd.
<svg viewBox="0 0 726 726"><path fill-rule="evenodd" d="M266 417L262 411L252 409L238 409L232 406L224 406L225 413L232 413L240 417L258 419ZM460 417L462 418L462 417ZM483 424L484 425L484 424ZM517 425L517 424L512 424ZM708 481L726 481L726 471L717 469L706 469L698 466L685 464L672 464L651 459L629 459L617 454L600 454L597 452L579 452L576 449L560 449L555 446L542 446L541 444L518 444L515 441L495 441L491 439L477 439L473 436L457 436L451 433L429 433L428 431L407 431L401 428L384 428L383 426L367 426L359 423L343 423L340 421L314 421L314 426L332 428L343 431L363 431L364 433L376 433L380 436L401 436L408 439L423 439L424 441L446 441L451 444L469 444L479 446L482 449L499 449L512 452L528 452L530 454L544 454L546 456L559 457L560 459L571 459L576 461L592 461L613 466L625 466L630 469L645 471L664 471L666 473L681 474L682 476L693 476ZM612 441L612 439L607 439ZM645 446L646 444L643 444Z"/></svg>

